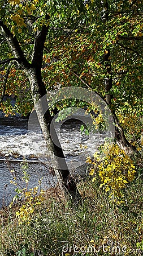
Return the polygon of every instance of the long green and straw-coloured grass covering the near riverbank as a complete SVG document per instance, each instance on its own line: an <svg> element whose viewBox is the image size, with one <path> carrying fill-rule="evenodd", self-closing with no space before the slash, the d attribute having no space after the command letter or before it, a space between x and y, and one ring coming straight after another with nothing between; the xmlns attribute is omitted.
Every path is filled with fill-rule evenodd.
<svg viewBox="0 0 143 256"><path fill-rule="evenodd" d="M19 225L15 216L23 203L2 209L0 255L107 256L119 255L119 249L120 255L143 255L142 175L125 188L122 205L109 202L98 179L92 184L87 177L78 188L83 197L79 207L65 201L58 187L47 190L29 224Z"/></svg>

